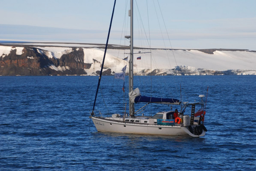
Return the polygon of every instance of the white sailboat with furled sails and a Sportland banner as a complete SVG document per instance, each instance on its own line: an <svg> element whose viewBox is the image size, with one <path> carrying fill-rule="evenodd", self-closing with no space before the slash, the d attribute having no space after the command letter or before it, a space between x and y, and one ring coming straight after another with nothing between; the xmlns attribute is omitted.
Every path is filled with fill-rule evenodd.
<svg viewBox="0 0 256 171"><path fill-rule="evenodd" d="M115 2L114 2L115 7ZM111 17L109 33L111 23L113 19L113 13ZM92 112L90 112L90 118L98 132L115 132L115 133L129 133L129 134L143 134L143 135L164 135L164 136L187 136L187 137L201 137L204 136L207 129L204 126L204 116L206 102L203 102L204 95L199 95L201 101L198 103L181 103L180 100L175 98L158 98L142 96L138 88L133 88L133 0L130 1L130 60L129 60L129 115L119 114L113 112L109 117L103 117L99 112L98 116L95 113L95 102L99 89L99 84L102 76L102 70L107 50L107 44L109 34L107 38L105 53L102 61L102 68L98 80L98 87L94 100L94 106ZM208 88L207 88L208 91ZM207 95L206 95L207 99ZM142 108L146 107L150 103L155 104L168 104L168 105L181 105L180 111L160 111L154 116L138 116L138 111L134 110L134 103L146 103ZM200 105L201 108L196 112L195 106ZM187 115L185 113L187 108L191 108L191 113Z"/></svg>

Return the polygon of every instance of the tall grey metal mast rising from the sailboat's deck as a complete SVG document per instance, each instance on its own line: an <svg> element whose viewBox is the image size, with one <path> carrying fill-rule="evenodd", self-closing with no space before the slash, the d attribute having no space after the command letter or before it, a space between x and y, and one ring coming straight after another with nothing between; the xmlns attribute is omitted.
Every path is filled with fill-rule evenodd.
<svg viewBox="0 0 256 171"><path fill-rule="evenodd" d="M130 2L130 29L131 29L131 39L130 39L130 61L129 61L129 92L133 91L133 0ZM134 103L129 99L129 114L134 115Z"/></svg>

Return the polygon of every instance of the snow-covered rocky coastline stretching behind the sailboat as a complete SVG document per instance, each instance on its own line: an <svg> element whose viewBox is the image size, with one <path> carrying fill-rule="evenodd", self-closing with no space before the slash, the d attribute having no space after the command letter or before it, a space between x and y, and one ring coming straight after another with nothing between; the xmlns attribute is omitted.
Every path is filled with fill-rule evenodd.
<svg viewBox="0 0 256 171"><path fill-rule="evenodd" d="M0 75L98 75L103 47L102 44L1 44ZM128 64L123 60L127 53L127 46L109 45L103 75L121 72ZM134 53L134 74L256 75L256 51L135 48ZM139 56L141 59L137 59Z"/></svg>

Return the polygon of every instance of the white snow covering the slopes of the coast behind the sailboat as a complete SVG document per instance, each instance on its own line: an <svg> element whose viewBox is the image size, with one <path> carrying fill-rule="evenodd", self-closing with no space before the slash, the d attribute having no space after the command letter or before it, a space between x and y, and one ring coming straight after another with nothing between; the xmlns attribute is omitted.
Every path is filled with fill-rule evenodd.
<svg viewBox="0 0 256 171"><path fill-rule="evenodd" d="M18 46L18 45L17 45ZM14 47L17 49L16 54L21 54L23 47ZM0 46L0 60L7 56L14 49L9 46ZM70 53L70 47L37 47L42 49L49 58L60 58L63 54ZM100 70L103 59L104 49L102 48L83 48L84 63L91 63L91 68L85 70L87 75L95 75ZM104 68L110 68L113 72L121 72L122 68L128 64L122 60L127 57L130 50L108 49L105 59ZM207 54L198 50L164 50L153 49L151 53L147 49L135 49L134 53L134 73L144 70L146 73L158 69L161 72L167 72L176 66L182 66L191 71L202 70L239 70L238 74L256 75L256 52L253 51L218 51L214 54ZM137 59L141 56L141 60ZM129 59L129 58L128 58ZM151 60L150 60L151 59ZM128 65L127 65L128 68ZM146 70L145 70L146 69ZM104 69L106 70L106 69ZM104 71L103 70L103 71ZM127 69L128 70L128 69ZM126 70L126 71L127 71Z"/></svg>

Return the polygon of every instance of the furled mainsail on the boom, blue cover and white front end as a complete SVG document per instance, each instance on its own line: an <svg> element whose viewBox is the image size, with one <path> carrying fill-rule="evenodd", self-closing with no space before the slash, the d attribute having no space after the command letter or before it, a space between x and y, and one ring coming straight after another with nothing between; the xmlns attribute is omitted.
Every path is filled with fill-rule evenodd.
<svg viewBox="0 0 256 171"><path fill-rule="evenodd" d="M133 91L131 91L129 93L129 97L133 103L145 102L145 103L163 103L163 104L177 104L177 105L180 104L178 99L141 96L141 93L139 92L139 88L136 88Z"/></svg>

